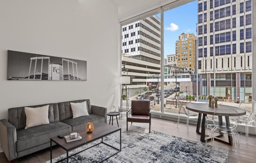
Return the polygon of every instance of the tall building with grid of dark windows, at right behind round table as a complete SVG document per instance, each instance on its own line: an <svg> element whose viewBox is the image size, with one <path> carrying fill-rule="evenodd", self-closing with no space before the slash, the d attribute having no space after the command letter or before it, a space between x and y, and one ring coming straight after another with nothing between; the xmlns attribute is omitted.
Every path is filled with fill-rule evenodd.
<svg viewBox="0 0 256 163"><path fill-rule="evenodd" d="M252 0L198 0L200 94L225 101L252 95Z"/></svg>

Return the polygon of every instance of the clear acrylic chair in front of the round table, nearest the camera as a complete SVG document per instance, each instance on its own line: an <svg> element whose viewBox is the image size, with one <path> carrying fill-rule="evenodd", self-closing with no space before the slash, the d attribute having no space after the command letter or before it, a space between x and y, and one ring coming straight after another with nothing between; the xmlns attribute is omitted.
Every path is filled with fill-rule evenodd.
<svg viewBox="0 0 256 163"><path fill-rule="evenodd" d="M229 117L223 116L223 112L228 112L229 114L231 113L234 118L234 121L231 121L232 124L230 123L227 125L227 120L229 121ZM224 121L225 120L225 121ZM239 134L236 131L236 127L238 126L239 121L239 115L236 110L233 109L228 109L228 108L223 108L223 109L218 109L214 112L212 116L212 121L215 125L215 127L211 130L211 139L212 139L212 152L214 156L214 132L218 131L219 134L227 134L228 136L232 136L232 150L233 152L237 152L237 161L240 163L240 152L239 152ZM236 149L236 150L235 150Z"/></svg>

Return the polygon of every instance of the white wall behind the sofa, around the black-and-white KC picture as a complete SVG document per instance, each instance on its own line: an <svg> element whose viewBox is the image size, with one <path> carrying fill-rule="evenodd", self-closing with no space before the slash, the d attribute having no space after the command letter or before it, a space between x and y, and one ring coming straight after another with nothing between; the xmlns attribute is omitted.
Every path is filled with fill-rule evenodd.
<svg viewBox="0 0 256 163"><path fill-rule="evenodd" d="M118 9L108 0L0 0L0 119L7 109L90 99L117 106ZM87 81L7 81L7 50L87 61Z"/></svg>

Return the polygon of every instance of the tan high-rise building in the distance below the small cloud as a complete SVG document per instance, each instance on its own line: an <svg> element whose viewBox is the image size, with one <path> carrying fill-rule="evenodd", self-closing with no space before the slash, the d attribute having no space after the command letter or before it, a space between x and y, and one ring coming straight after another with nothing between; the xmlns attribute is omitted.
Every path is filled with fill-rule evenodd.
<svg viewBox="0 0 256 163"><path fill-rule="evenodd" d="M181 33L176 41L176 62L177 67L182 67L185 72L195 70L195 46L196 36L190 33Z"/></svg>

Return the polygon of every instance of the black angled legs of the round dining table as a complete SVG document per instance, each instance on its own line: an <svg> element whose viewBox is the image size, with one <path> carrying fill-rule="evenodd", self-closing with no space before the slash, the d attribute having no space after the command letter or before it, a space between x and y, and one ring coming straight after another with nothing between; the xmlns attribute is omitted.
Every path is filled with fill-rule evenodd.
<svg viewBox="0 0 256 163"><path fill-rule="evenodd" d="M201 123L202 113L198 114L198 120L197 120L197 125L196 125L196 133L201 134L200 141L202 141L202 142L205 142L205 116L207 116L207 114L203 114L201 132L199 130L200 130L200 123ZM220 116L219 116L219 118L220 118ZM225 120L226 120L226 126L230 126L230 121L229 121L228 116L225 116ZM222 122L222 120L219 120L219 121ZM220 124L220 125L222 125L222 124ZM224 136L223 133L219 133L218 136L214 136L214 140L220 141L221 143L225 143L227 145L232 145L232 138L231 138L230 135L228 136L229 142L218 139L219 137L222 137L222 136ZM207 137L208 137L208 135L207 135ZM207 141L208 140L211 140L211 138L207 138Z"/></svg>

